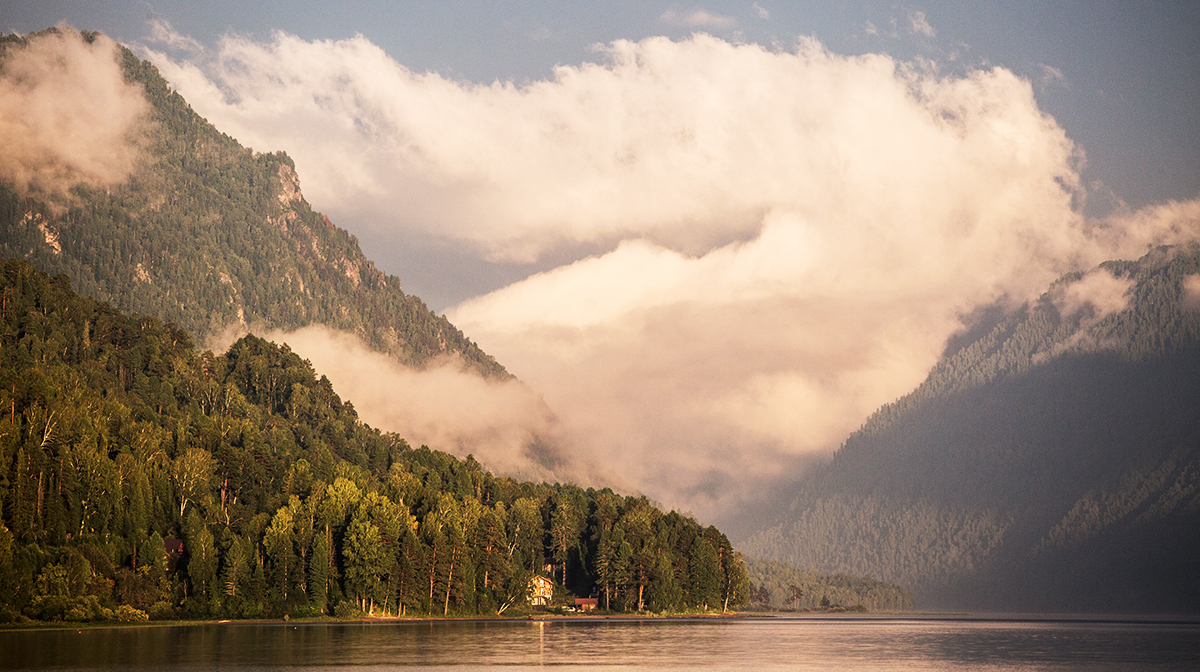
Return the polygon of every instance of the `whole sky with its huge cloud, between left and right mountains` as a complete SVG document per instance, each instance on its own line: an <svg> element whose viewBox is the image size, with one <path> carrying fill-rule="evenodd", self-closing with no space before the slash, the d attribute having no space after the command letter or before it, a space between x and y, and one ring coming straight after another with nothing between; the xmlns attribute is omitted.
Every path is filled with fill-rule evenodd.
<svg viewBox="0 0 1200 672"><path fill-rule="evenodd" d="M59 22L286 150L527 385L479 392L478 436L517 438L464 451L551 434L570 478L702 517L828 456L978 308L1081 271L1064 310L1118 311L1098 262L1200 239L1196 2L0 5ZM348 338L289 342L372 425L469 424L397 415L461 388Z"/></svg>

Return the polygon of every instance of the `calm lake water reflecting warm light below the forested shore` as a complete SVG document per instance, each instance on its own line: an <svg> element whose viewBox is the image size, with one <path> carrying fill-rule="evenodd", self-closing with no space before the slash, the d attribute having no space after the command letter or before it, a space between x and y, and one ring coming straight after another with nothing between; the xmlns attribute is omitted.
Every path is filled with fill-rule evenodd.
<svg viewBox="0 0 1200 672"><path fill-rule="evenodd" d="M0 631L0 670L1200 670L1200 623L809 617Z"/></svg>

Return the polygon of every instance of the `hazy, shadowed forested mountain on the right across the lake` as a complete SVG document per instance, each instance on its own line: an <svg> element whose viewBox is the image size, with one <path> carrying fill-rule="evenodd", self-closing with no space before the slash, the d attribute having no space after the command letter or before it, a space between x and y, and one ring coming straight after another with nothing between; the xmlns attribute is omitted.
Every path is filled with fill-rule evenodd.
<svg viewBox="0 0 1200 672"><path fill-rule="evenodd" d="M1200 612L1200 248L1067 276L959 338L743 551L918 608Z"/></svg>

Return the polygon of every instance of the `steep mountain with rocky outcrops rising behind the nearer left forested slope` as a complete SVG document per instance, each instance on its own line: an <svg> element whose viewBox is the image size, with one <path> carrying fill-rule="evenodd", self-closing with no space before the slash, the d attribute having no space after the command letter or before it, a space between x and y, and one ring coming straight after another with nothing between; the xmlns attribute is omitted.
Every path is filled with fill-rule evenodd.
<svg viewBox="0 0 1200 672"><path fill-rule="evenodd" d="M38 38L0 37L0 61ZM66 274L82 294L169 320L199 342L230 325L319 323L409 365L455 354L481 374L508 376L314 212L286 154L241 146L148 61L124 47L120 58L151 106L144 164L110 188L74 187L65 211L0 184L0 258Z"/></svg>

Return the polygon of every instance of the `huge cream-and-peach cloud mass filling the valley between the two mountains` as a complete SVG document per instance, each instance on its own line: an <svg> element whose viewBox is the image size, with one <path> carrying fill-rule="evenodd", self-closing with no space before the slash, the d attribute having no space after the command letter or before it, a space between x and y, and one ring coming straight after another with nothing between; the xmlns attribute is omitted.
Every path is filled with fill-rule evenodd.
<svg viewBox="0 0 1200 672"><path fill-rule="evenodd" d="M709 518L910 391L976 307L1200 222L1200 202L1086 221L1082 154L1004 68L707 35L520 86L414 73L362 37L150 55L352 228L492 260L589 250L448 314L582 469Z"/></svg>

